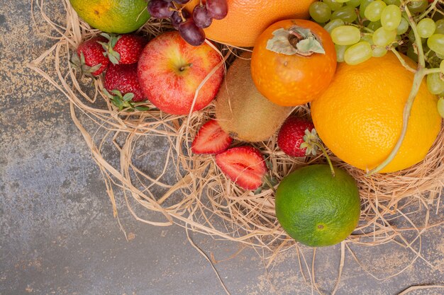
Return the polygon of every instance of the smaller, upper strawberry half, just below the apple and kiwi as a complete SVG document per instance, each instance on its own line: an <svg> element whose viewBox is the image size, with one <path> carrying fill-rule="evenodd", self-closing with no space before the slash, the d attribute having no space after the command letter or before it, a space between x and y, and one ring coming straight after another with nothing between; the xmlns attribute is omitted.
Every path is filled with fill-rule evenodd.
<svg viewBox="0 0 444 295"><path fill-rule="evenodd" d="M197 132L192 143L194 154L219 154L233 142L216 120L209 120Z"/></svg>

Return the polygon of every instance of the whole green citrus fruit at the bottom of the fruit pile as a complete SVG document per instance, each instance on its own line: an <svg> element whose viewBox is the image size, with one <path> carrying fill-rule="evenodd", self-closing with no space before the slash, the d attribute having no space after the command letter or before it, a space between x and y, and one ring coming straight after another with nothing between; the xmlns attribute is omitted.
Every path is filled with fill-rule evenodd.
<svg viewBox="0 0 444 295"><path fill-rule="evenodd" d="M276 216L289 236L304 245L334 245L353 232L360 217L353 177L328 165L299 168L277 187Z"/></svg>

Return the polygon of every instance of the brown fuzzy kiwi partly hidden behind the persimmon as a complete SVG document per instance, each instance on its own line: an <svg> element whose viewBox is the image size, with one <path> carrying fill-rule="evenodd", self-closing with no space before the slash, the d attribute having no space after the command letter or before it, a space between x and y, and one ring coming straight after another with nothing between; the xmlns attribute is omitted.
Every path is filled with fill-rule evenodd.
<svg viewBox="0 0 444 295"><path fill-rule="evenodd" d="M245 52L227 71L216 98L216 120L234 139L266 141L292 112L292 107L272 103L262 96L251 78Z"/></svg>

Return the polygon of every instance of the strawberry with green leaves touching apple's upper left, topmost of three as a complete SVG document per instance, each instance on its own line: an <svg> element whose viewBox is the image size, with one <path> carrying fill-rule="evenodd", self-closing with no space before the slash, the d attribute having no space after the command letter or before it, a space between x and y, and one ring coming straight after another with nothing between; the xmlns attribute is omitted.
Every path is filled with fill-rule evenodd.
<svg viewBox="0 0 444 295"><path fill-rule="evenodd" d="M136 35L109 35L102 33L108 42L101 42L105 55L113 64L135 64L138 62L148 40Z"/></svg>

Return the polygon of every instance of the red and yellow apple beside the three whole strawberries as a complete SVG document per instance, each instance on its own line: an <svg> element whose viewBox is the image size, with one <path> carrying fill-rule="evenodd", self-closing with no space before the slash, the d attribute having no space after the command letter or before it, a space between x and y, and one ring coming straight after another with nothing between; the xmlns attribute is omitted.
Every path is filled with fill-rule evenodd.
<svg viewBox="0 0 444 295"><path fill-rule="evenodd" d="M221 55L204 43L192 46L178 32L155 37L145 46L138 62L138 79L148 100L162 112L188 115L202 81L218 66L199 90L193 111L216 97L223 81Z"/></svg>

